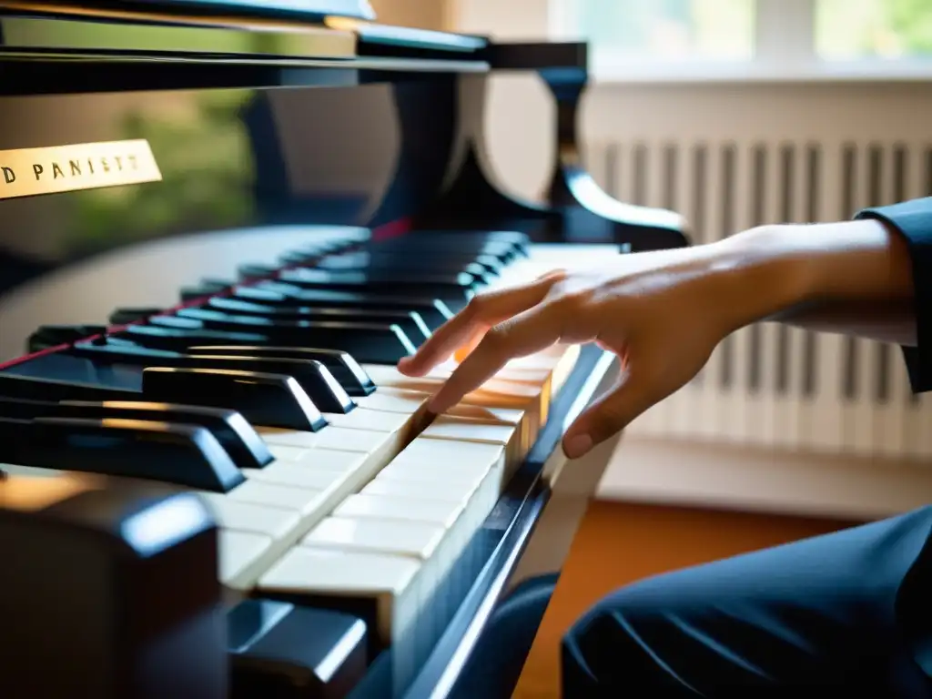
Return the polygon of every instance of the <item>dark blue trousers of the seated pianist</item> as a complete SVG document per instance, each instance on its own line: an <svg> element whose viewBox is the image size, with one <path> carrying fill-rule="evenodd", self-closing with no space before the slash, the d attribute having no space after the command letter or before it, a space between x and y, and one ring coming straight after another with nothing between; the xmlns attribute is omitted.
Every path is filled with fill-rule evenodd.
<svg viewBox="0 0 932 699"><path fill-rule="evenodd" d="M932 697L930 531L927 507L624 587L565 637L563 694ZM520 672L533 634L519 629L536 629L554 586L542 579L508 600L500 631L471 663L478 670L495 649L489 682Z"/></svg>

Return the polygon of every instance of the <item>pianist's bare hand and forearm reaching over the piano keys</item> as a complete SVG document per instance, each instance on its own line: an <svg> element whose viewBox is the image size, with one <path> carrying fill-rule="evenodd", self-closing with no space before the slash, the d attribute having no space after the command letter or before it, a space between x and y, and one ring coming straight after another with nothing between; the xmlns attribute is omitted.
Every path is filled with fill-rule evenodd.
<svg viewBox="0 0 932 699"><path fill-rule="evenodd" d="M909 246L892 226L871 219L762 226L479 296L399 369L423 375L479 340L433 396L439 413L513 357L596 341L622 358L623 369L614 389L569 427L563 448L575 459L677 391L723 337L751 322L914 346L915 306Z"/></svg>

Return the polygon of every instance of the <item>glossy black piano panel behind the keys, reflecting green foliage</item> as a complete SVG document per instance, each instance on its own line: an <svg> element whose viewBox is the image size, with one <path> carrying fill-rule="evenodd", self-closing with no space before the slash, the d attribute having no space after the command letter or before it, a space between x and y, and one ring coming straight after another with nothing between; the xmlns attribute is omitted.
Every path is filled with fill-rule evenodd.
<svg viewBox="0 0 932 699"><path fill-rule="evenodd" d="M39 324L171 307L202 278L275 263L324 234L308 226L411 215L435 196L456 142L451 74L332 89L127 88L0 97L0 362L23 354ZM3 198L11 152L139 139L161 181ZM38 158L48 177L55 158Z"/></svg>

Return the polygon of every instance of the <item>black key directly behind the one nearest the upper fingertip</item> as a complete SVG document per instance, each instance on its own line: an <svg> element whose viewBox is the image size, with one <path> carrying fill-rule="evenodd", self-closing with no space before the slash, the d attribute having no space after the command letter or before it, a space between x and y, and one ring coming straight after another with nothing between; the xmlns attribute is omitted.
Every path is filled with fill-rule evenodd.
<svg viewBox="0 0 932 699"><path fill-rule="evenodd" d="M198 311L215 311L230 315L259 316L278 322L364 322L397 325L404 335L415 344L431 336L431 329L415 311L382 310L363 308L281 308L241 301L237 298L212 298L205 307L183 308L178 311L182 318L198 317Z"/></svg>

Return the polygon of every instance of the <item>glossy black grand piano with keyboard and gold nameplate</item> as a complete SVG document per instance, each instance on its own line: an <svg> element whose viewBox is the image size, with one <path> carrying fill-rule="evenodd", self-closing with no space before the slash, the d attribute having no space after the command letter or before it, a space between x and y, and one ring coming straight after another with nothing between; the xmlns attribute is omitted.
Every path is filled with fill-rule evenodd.
<svg viewBox="0 0 932 699"><path fill-rule="evenodd" d="M584 170L586 63L363 0L0 1L0 696L475 695L614 365L548 349L442 416L449 366L394 365L487 290L688 244ZM542 201L490 167L505 71L557 105Z"/></svg>

